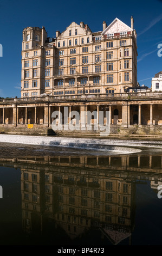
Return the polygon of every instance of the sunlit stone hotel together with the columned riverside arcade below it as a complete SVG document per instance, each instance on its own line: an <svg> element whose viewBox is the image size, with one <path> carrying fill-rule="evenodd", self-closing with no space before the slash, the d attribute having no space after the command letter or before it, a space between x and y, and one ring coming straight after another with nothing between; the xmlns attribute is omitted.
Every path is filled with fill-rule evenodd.
<svg viewBox="0 0 162 256"><path fill-rule="evenodd" d="M44 133L54 120L51 114L60 111L63 117L64 107L80 116L91 112L92 125L99 124L102 111L112 133L160 132L161 93L137 82L133 17L130 27L118 18L102 26L102 31L92 32L83 22L72 22L62 33L56 31L55 38L48 37L44 27L24 28L21 98L1 99L1 132L33 128L34 133ZM72 119L63 120L63 125L75 125ZM85 126L87 122L85 118Z"/></svg>

